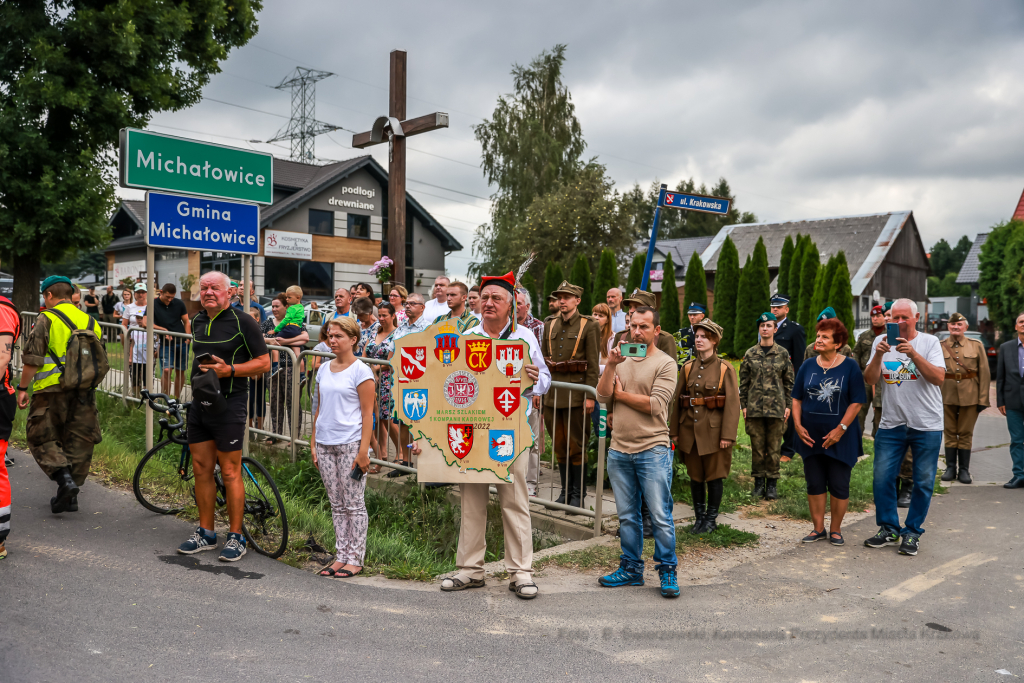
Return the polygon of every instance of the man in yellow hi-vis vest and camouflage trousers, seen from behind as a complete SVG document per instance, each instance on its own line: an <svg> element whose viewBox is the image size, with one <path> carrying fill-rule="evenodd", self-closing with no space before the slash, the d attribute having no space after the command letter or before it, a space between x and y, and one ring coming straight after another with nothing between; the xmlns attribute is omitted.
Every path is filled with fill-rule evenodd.
<svg viewBox="0 0 1024 683"><path fill-rule="evenodd" d="M92 450L102 435L95 392L66 391L60 386L72 335L60 316L79 330L92 330L97 337L101 333L99 324L71 302L75 287L70 280L50 275L43 281L40 291L46 310L40 312L25 345L17 407L29 408L28 384L32 382L32 407L25 427L29 451L39 468L57 484L57 495L50 499L50 511L77 512L79 488L89 475Z"/></svg>

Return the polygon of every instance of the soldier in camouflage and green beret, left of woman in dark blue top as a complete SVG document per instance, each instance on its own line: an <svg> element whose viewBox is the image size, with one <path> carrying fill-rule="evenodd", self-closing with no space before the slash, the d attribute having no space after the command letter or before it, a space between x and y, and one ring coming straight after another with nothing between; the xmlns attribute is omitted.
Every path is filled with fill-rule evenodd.
<svg viewBox="0 0 1024 683"><path fill-rule="evenodd" d="M793 409L796 374L790 354L775 343L772 313L761 313L758 337L739 366L739 408L751 437L754 497L774 501L778 498L778 463L785 421Z"/></svg>

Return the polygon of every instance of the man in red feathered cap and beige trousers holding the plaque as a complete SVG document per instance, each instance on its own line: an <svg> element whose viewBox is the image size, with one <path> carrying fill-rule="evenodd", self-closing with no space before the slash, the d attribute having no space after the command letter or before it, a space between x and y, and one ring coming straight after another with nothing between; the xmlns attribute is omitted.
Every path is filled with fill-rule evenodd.
<svg viewBox="0 0 1024 683"><path fill-rule="evenodd" d="M477 334L492 339L521 339L529 344L530 361L524 366L534 386L523 392L523 398L532 398L547 392L551 386L551 373L544 362L541 344L524 326L511 330L512 297L515 296L515 276L509 272L502 278L480 279L480 313L483 322L466 330L467 335ZM532 400L526 402L527 416L532 411ZM414 447L414 453L418 449ZM534 532L529 521L529 494L526 492L527 454L512 463L512 483L497 484L498 501L502 508L505 528L505 568L509 572L509 590L524 600L536 598L534 583ZM441 590L462 591L480 588L483 582L483 558L486 552L484 531L487 525L487 501L490 484L459 484L462 496L462 525L459 531L459 550L456 565L459 571L441 582Z"/></svg>

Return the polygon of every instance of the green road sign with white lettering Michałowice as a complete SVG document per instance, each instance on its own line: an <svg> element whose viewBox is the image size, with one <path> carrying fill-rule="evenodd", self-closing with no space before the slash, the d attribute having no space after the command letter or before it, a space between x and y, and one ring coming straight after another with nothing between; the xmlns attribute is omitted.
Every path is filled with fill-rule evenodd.
<svg viewBox="0 0 1024 683"><path fill-rule="evenodd" d="M273 203L273 156L123 128L122 187Z"/></svg>

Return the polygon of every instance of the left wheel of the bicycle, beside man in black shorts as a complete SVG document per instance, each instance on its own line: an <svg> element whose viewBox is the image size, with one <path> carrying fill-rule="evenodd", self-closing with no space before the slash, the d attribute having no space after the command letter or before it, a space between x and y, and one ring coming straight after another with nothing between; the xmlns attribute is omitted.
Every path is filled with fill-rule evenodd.
<svg viewBox="0 0 1024 683"><path fill-rule="evenodd" d="M187 446L165 439L142 456L132 489L146 510L173 515L196 506L196 482Z"/></svg>

